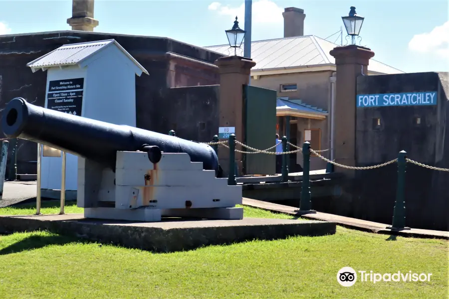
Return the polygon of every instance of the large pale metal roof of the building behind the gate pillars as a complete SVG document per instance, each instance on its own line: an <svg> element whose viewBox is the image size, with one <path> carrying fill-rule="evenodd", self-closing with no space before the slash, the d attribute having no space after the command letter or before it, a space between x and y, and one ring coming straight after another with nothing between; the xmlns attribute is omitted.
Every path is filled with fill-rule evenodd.
<svg viewBox="0 0 449 299"><path fill-rule="evenodd" d="M335 65L335 58L329 52L337 46L339 45L314 35L253 41L251 42L251 59L257 64L251 70ZM234 49L229 45L205 48L227 56L234 54ZM243 56L243 51L244 43L237 49L237 55ZM370 59L368 71L381 74L404 73L374 59Z"/></svg>

